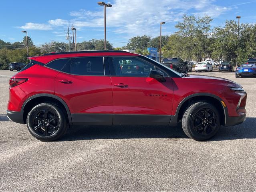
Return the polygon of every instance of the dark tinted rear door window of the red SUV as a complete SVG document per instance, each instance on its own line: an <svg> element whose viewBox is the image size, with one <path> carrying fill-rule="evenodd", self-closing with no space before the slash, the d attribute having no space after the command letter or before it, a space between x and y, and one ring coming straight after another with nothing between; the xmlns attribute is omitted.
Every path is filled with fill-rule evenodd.
<svg viewBox="0 0 256 192"><path fill-rule="evenodd" d="M70 65L70 73L74 75L104 75L103 57L76 58Z"/></svg>

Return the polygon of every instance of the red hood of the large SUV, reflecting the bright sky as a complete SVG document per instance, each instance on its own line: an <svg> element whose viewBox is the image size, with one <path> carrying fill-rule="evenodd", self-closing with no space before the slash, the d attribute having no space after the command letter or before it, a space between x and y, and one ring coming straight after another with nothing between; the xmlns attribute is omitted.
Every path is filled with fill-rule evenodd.
<svg viewBox="0 0 256 192"><path fill-rule="evenodd" d="M186 78L191 79L191 82L223 84L223 85L226 85L228 87L242 88L242 86L240 84L238 84L234 81L225 79L225 78L220 78L220 77L188 74L188 76Z"/></svg>

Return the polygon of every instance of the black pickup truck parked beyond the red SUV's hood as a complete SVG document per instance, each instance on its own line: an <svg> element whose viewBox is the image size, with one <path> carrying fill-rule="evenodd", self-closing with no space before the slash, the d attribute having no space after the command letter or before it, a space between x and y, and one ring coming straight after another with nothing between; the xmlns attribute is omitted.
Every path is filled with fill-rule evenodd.
<svg viewBox="0 0 256 192"><path fill-rule="evenodd" d="M187 73L189 70L188 63L181 58L163 58L162 64L177 72Z"/></svg>

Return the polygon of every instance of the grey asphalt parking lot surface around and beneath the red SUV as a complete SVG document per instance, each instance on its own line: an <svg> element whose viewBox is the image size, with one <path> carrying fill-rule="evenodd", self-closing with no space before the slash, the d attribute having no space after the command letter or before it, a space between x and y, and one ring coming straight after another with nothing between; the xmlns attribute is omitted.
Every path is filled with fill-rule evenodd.
<svg viewBox="0 0 256 192"><path fill-rule="evenodd" d="M0 71L1 191L256 190L256 78L199 73L238 82L248 94L246 121L205 142L180 126L75 127L62 140L40 142L6 117L15 73Z"/></svg>

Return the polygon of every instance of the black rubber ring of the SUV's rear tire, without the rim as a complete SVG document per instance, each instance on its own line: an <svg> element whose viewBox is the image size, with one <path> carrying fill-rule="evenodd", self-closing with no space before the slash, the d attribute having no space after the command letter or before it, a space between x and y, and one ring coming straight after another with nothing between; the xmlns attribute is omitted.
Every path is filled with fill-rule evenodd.
<svg viewBox="0 0 256 192"><path fill-rule="evenodd" d="M34 114L36 114L36 112L38 112L39 110L42 110L42 109L52 110L58 116L59 128L53 135L41 136L41 135L38 135L33 129L33 119L32 119L32 117L34 116ZM53 141L53 140L56 140L56 139L60 138L63 134L65 134L65 132L67 130L67 119L66 119L65 114L63 113L63 111L58 106L56 106L55 104L41 103L41 104L36 105L34 108L32 108L32 110L28 113L27 127L28 127L28 131L30 132L30 134L32 134L32 136L34 136L38 140Z"/></svg>

